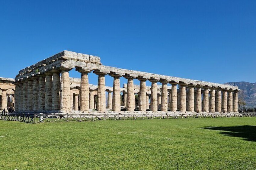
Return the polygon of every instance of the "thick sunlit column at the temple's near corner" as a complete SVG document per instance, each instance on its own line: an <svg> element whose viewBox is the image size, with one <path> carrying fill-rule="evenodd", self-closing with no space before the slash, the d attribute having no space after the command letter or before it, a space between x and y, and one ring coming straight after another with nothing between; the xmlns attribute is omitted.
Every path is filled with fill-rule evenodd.
<svg viewBox="0 0 256 170"><path fill-rule="evenodd" d="M70 80L69 80L69 70L61 70L60 79L60 110L68 111L70 110Z"/></svg>

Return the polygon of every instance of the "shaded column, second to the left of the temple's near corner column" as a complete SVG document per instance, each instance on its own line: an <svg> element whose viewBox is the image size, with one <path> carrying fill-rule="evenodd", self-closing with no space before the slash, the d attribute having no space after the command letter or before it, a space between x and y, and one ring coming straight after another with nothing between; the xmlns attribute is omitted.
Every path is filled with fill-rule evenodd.
<svg viewBox="0 0 256 170"><path fill-rule="evenodd" d="M46 74L46 82L45 82L45 110L52 110L53 105L53 74Z"/></svg>

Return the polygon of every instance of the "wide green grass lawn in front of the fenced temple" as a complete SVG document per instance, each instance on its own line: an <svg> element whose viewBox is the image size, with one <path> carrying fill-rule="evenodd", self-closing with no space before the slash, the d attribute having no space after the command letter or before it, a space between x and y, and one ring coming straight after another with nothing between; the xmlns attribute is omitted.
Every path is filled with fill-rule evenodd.
<svg viewBox="0 0 256 170"><path fill-rule="evenodd" d="M256 117L0 121L0 169L256 169Z"/></svg>

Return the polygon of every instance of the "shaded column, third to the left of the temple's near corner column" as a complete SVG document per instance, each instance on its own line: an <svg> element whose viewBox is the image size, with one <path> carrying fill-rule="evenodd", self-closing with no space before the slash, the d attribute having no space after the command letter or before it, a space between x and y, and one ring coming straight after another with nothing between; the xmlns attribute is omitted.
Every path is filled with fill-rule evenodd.
<svg viewBox="0 0 256 170"><path fill-rule="evenodd" d="M38 110L45 110L45 77L39 77Z"/></svg>

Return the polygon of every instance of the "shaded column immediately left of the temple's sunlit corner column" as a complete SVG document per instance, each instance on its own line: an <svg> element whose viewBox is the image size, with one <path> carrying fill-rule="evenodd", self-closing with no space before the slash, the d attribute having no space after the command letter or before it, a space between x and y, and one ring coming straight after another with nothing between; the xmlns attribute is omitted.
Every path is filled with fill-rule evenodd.
<svg viewBox="0 0 256 170"><path fill-rule="evenodd" d="M60 71L54 70L53 72L53 104L52 110L60 110L59 95L60 95Z"/></svg>

